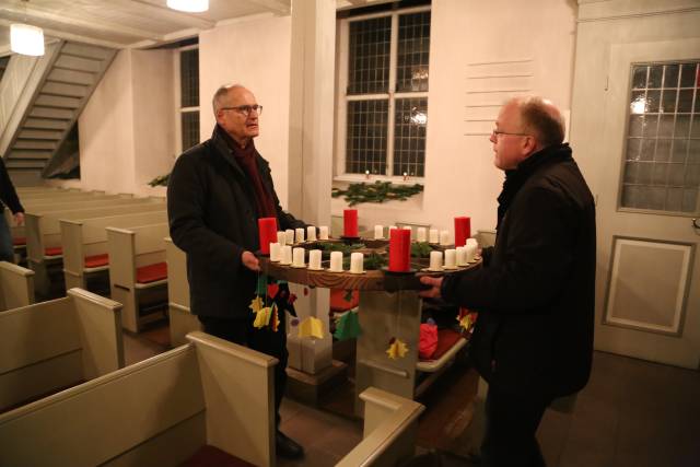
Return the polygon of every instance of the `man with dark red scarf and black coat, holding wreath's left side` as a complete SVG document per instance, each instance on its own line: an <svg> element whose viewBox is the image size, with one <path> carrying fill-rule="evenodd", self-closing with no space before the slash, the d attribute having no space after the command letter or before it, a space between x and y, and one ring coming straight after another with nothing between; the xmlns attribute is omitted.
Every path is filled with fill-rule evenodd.
<svg viewBox="0 0 700 467"><path fill-rule="evenodd" d="M168 180L171 236L187 254L191 312L205 331L280 361L275 372L279 428L287 382L285 317L282 312L276 330L253 326L249 305L260 271L253 252L259 248L259 218L277 218L281 230L305 224L282 211L269 164L255 149L262 107L253 93L237 84L221 86L212 104L217 126L211 139L182 154ZM279 429L276 445L284 457L304 455Z"/></svg>

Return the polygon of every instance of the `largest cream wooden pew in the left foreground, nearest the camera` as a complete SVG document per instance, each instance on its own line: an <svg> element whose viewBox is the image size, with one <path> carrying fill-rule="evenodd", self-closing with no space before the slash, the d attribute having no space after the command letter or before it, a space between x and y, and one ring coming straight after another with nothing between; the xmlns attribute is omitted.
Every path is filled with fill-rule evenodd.
<svg viewBox="0 0 700 467"><path fill-rule="evenodd" d="M273 466L278 361L203 332L188 339L0 416L0 465L178 466L210 445Z"/></svg>

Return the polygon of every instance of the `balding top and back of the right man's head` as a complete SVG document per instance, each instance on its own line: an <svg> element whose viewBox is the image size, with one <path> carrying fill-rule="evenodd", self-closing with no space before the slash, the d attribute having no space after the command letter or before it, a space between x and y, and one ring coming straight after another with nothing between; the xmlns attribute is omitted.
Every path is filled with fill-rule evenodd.
<svg viewBox="0 0 700 467"><path fill-rule="evenodd" d="M517 107L523 129L535 136L538 149L563 142L564 118L551 101L537 96L515 97L506 105Z"/></svg>

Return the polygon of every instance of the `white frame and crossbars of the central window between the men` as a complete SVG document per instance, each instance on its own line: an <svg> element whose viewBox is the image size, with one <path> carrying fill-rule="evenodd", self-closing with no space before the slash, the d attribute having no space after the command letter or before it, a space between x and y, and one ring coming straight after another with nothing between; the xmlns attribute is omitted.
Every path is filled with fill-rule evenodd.
<svg viewBox="0 0 700 467"><path fill-rule="evenodd" d="M395 137L395 112L397 98L410 98L410 97L424 97L427 105L430 107L429 91L420 92L395 92L396 89L396 75L397 75L397 61L398 61L398 20L400 15L411 13L422 13L431 11L432 5L410 7L399 10L383 11L377 13L369 13L358 16L350 16L338 20L337 31L338 45L336 50L336 57L338 57L337 67L337 94L336 94L336 156L334 157L334 182L392 182L398 185L413 185L416 183L424 184L425 176L408 176L404 175L377 175L377 174L353 174L346 172L346 157L347 157L347 135L348 135L348 102L351 101L370 101L370 100L388 100L388 116L387 116L387 132L386 132L386 166L387 173L393 173L394 170L394 137ZM357 21L372 20L375 17L392 17L392 44L389 49L389 83L388 92L382 94L348 94L348 70L350 68L350 23ZM431 13L432 22L432 13ZM431 27L432 35L432 27ZM432 44L432 42L431 42ZM428 62L428 69L430 70L430 61L432 60L432 54ZM429 113L430 115L430 113ZM423 164L428 165L428 124L425 127L425 161ZM425 167L423 167L425 173Z"/></svg>

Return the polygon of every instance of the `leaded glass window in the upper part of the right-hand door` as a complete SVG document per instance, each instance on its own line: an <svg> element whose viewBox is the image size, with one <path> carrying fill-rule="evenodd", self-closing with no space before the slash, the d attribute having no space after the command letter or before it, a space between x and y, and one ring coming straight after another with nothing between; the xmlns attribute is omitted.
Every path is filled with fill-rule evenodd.
<svg viewBox="0 0 700 467"><path fill-rule="evenodd" d="M699 63L632 66L622 208L700 212Z"/></svg>

